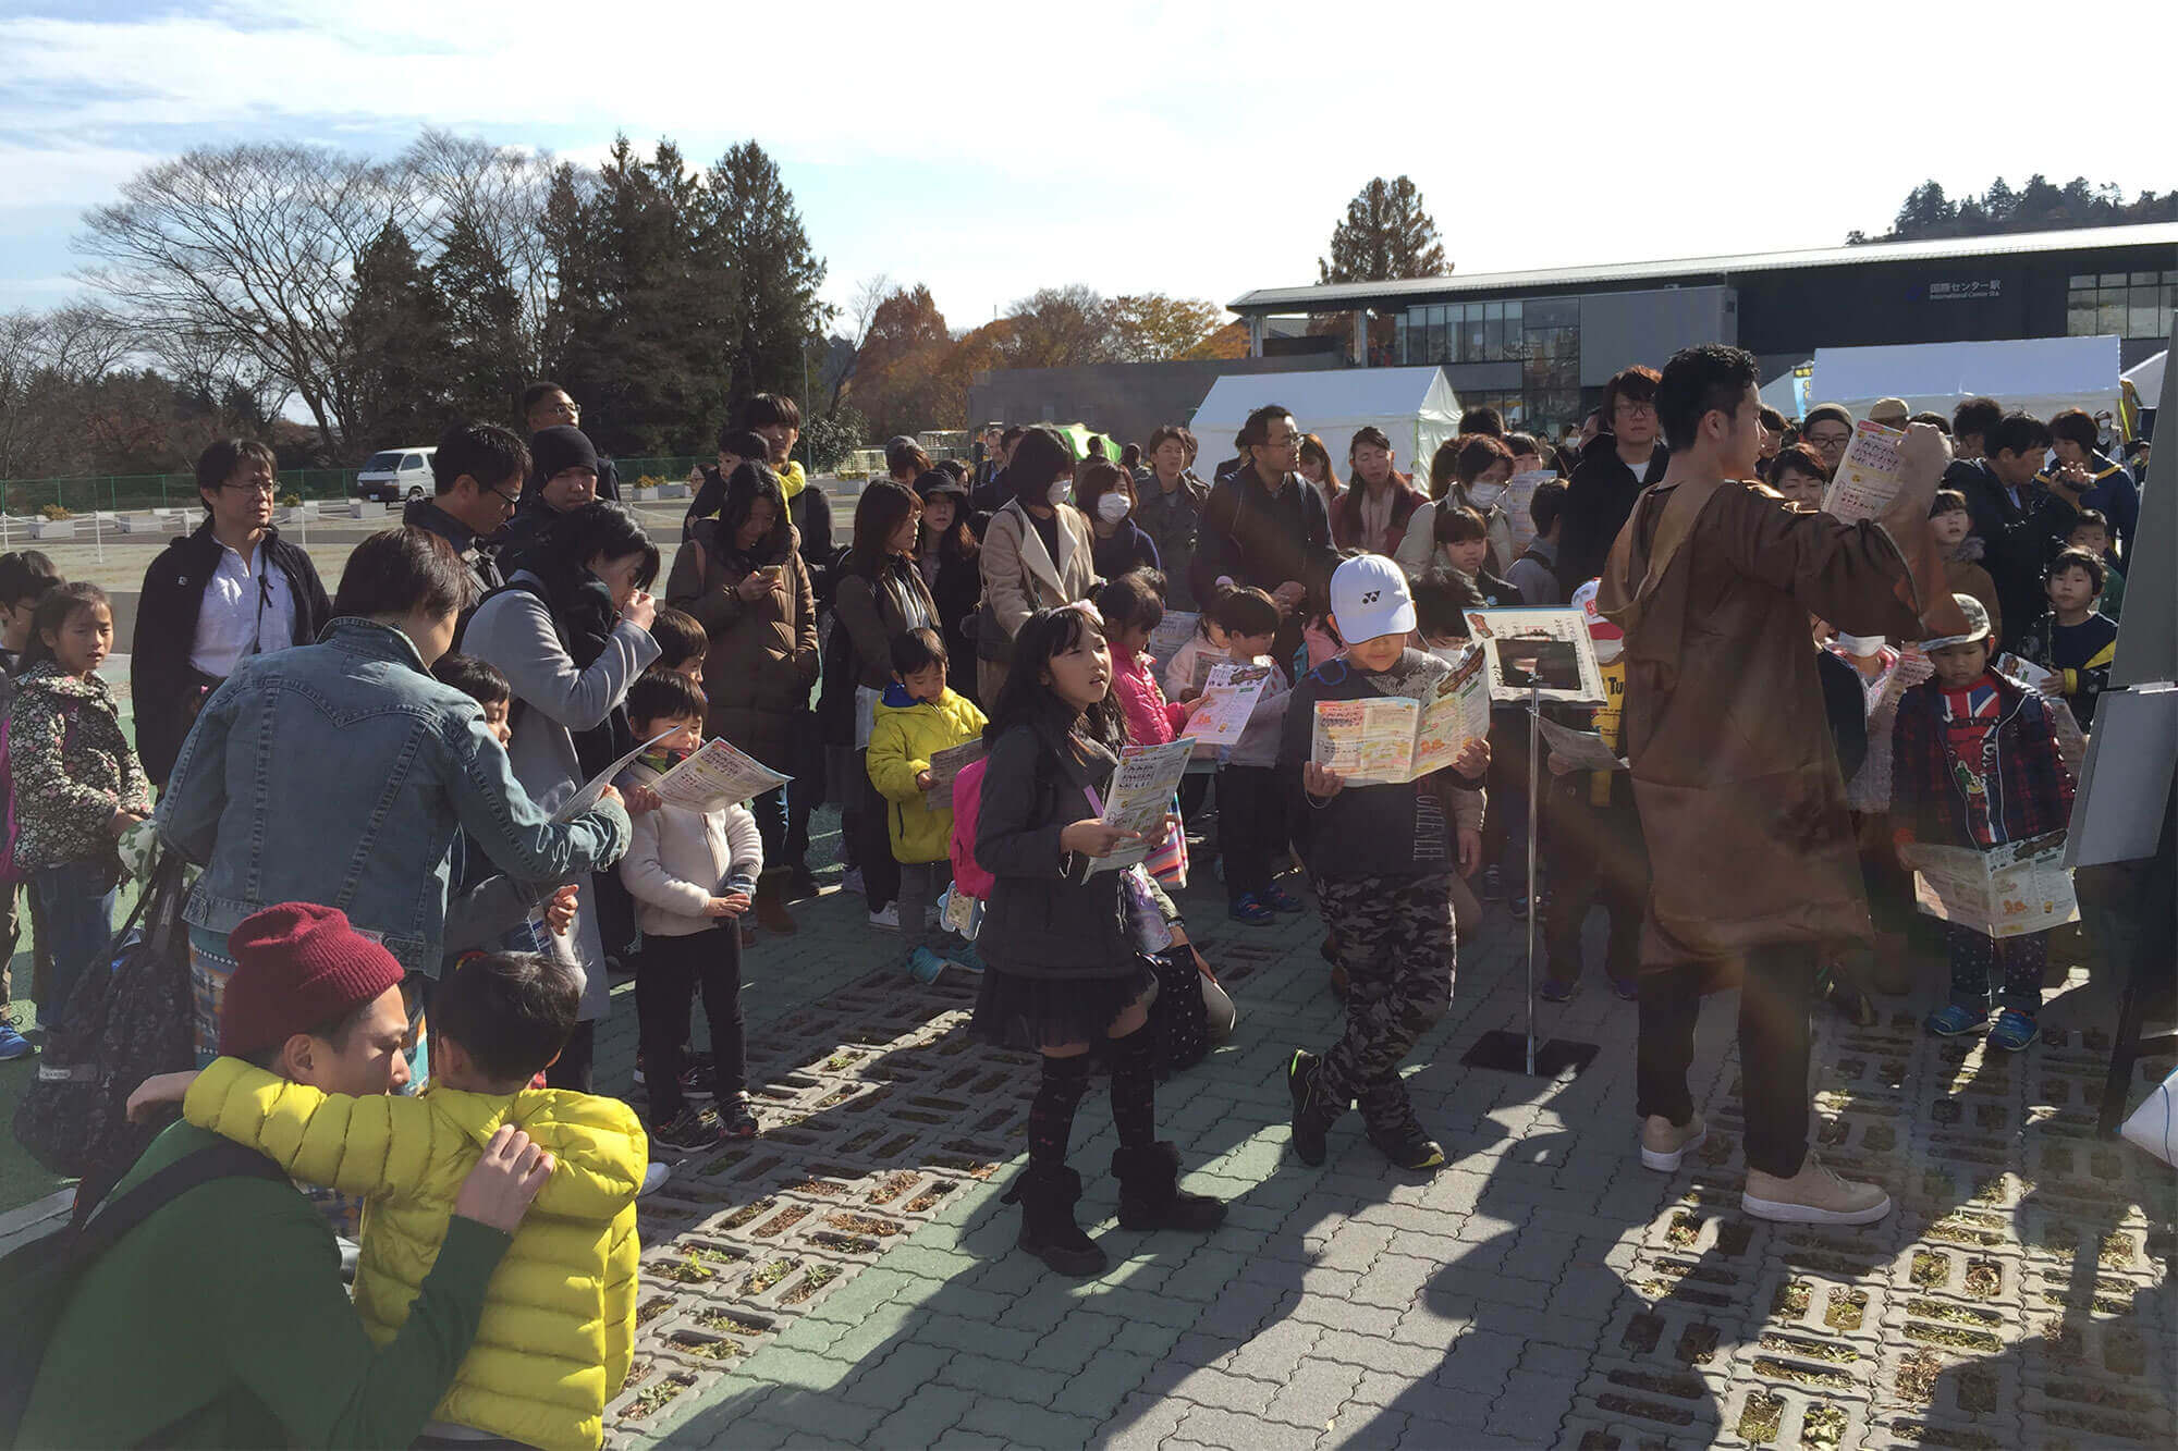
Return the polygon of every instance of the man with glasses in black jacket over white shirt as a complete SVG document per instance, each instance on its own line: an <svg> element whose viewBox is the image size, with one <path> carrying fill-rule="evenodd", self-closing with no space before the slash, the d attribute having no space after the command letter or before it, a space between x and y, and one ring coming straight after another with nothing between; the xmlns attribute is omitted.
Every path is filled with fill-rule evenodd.
<svg viewBox="0 0 2178 1451"><path fill-rule="evenodd" d="M255 438L205 449L205 523L144 571L129 680L137 756L161 787L205 697L244 656L309 645L333 617L318 566L272 525L272 449Z"/></svg>

